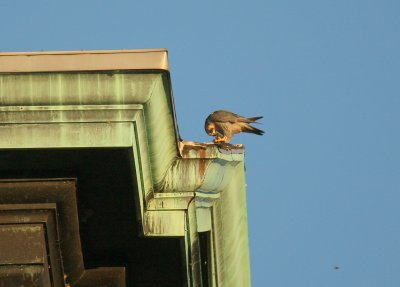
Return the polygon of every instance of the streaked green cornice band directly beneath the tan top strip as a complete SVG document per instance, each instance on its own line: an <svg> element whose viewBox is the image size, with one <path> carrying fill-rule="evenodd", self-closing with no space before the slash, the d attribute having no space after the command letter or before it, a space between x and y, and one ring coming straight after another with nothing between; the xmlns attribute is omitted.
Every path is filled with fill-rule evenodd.
<svg viewBox="0 0 400 287"><path fill-rule="evenodd" d="M144 104L161 73L0 74L1 105Z"/></svg>

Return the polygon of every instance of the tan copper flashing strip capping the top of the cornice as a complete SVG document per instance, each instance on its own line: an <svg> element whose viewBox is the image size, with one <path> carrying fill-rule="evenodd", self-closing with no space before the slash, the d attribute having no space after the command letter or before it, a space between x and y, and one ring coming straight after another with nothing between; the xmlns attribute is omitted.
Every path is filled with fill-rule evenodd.
<svg viewBox="0 0 400 287"><path fill-rule="evenodd" d="M169 71L166 49L2 52L0 73L110 70Z"/></svg>

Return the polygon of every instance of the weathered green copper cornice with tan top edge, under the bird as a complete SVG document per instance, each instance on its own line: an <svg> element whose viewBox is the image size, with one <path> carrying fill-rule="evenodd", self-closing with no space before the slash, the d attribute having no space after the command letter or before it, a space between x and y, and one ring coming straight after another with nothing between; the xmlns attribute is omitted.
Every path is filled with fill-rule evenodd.
<svg viewBox="0 0 400 287"><path fill-rule="evenodd" d="M210 231L211 286L249 286L243 148L180 140L168 69L164 49L0 53L0 148L132 149L143 234L184 238L194 286Z"/></svg>

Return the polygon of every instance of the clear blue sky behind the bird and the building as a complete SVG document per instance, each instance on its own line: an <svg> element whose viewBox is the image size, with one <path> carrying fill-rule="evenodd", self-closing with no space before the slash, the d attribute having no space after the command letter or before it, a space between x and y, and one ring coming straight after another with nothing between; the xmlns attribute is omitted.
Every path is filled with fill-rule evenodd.
<svg viewBox="0 0 400 287"><path fill-rule="evenodd" d="M239 135L253 286L400 286L400 2L0 0L1 51L168 48L180 133ZM339 269L334 267L338 266Z"/></svg>

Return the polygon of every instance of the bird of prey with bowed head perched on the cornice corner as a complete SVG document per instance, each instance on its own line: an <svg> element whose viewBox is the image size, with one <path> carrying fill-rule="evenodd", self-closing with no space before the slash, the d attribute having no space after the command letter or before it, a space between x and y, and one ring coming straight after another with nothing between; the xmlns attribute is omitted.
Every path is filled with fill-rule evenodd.
<svg viewBox="0 0 400 287"><path fill-rule="evenodd" d="M226 110L215 111L207 117L205 130L207 134L215 137L214 143L227 143L240 132L261 136L264 131L250 125L261 118L245 118Z"/></svg>

